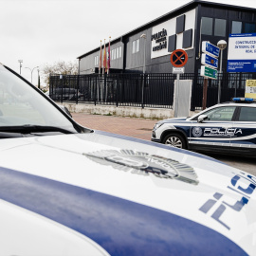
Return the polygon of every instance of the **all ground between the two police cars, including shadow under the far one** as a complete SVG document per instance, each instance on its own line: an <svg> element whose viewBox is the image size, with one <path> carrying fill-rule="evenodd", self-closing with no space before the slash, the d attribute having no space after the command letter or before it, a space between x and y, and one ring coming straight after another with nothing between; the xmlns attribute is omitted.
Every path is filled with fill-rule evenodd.
<svg viewBox="0 0 256 256"><path fill-rule="evenodd" d="M152 129L156 122L156 120L150 119L119 118L85 113L72 113L72 116L73 119L88 128L146 140L151 139ZM209 156L256 176L256 157L213 154Z"/></svg>

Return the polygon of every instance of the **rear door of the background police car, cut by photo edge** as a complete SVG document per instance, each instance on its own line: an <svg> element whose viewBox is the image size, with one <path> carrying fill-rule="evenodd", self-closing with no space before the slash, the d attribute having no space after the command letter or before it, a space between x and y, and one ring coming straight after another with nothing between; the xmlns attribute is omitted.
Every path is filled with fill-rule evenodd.
<svg viewBox="0 0 256 256"><path fill-rule="evenodd" d="M239 106L230 147L240 153L256 152L256 106Z"/></svg>

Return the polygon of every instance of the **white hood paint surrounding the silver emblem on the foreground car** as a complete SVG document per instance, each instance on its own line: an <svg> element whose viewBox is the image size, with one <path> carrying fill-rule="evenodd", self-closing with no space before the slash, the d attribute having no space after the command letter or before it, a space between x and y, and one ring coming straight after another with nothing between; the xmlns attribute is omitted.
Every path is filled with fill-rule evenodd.
<svg viewBox="0 0 256 256"><path fill-rule="evenodd" d="M218 206L221 202L235 205L243 197L239 188L256 185L255 177L248 179L247 174L213 159L211 161L208 157L196 157L189 152L185 155L179 150L170 151L162 146L155 151L155 143L145 146L135 140L99 134L16 138L15 143L14 139L5 139L0 145L0 166L172 212L229 237L250 255L255 253L256 245L252 239L256 235L256 215L251 214L256 209L255 192L249 196L242 210L227 208L221 216L221 221L229 229L210 217L216 207L207 214L199 210L208 200L214 199L216 192L223 194L222 200L217 202ZM102 150L131 148L193 166L199 183L194 185L142 172L133 174L133 171L122 171L111 165L101 168L101 163L86 156ZM241 178L232 185L231 179L236 175ZM2 218L2 211L0 216Z"/></svg>

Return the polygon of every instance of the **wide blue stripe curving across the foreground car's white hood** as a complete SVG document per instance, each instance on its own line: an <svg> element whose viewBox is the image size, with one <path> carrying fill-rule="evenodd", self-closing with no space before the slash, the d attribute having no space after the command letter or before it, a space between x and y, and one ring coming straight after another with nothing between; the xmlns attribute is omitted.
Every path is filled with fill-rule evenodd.
<svg viewBox="0 0 256 256"><path fill-rule="evenodd" d="M0 198L84 234L111 255L247 255L220 233L170 212L6 168Z"/></svg>

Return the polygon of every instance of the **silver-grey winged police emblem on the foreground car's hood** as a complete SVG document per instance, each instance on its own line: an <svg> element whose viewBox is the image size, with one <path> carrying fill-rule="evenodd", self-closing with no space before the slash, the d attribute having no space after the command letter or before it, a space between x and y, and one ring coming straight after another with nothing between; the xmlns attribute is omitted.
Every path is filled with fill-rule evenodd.
<svg viewBox="0 0 256 256"><path fill-rule="evenodd" d="M193 168L171 158L160 155L149 155L133 150L102 150L84 153L86 157L103 165L110 165L124 172L133 174L154 174L159 178L177 179L183 182L198 184Z"/></svg>

